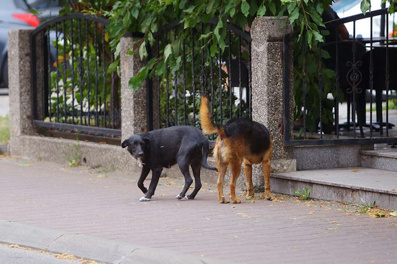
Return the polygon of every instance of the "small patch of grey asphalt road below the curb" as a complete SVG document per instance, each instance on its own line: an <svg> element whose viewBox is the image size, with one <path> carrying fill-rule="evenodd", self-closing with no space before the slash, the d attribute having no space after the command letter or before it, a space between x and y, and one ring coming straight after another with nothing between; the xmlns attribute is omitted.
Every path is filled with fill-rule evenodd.
<svg viewBox="0 0 397 264"><path fill-rule="evenodd" d="M6 264L82 264L82 261L67 259L70 256L60 256L39 252L27 248L12 248L9 245L0 244L0 263Z"/></svg>

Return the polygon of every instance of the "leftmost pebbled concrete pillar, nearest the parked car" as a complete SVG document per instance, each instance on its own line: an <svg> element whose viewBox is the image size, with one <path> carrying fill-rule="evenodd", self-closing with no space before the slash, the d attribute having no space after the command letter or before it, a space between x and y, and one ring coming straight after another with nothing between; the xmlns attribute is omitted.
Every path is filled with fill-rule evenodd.
<svg viewBox="0 0 397 264"><path fill-rule="evenodd" d="M30 42L32 29L8 31L8 88L10 93L10 152L19 155L18 137L34 134L32 87L30 82Z"/></svg>

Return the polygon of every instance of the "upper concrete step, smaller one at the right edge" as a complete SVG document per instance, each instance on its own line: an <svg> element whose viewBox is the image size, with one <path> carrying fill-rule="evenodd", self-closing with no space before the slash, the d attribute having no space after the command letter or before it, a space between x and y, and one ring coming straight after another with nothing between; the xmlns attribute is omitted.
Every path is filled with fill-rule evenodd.
<svg viewBox="0 0 397 264"><path fill-rule="evenodd" d="M397 171L397 148L379 147L361 151L361 167Z"/></svg>

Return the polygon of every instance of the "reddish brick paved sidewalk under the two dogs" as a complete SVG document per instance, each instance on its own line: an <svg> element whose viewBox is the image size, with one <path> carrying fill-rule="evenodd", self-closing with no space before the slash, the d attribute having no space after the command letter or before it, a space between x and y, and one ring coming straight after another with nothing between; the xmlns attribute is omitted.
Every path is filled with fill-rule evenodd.
<svg viewBox="0 0 397 264"><path fill-rule="evenodd" d="M138 202L137 176L126 172L1 157L0 219L240 263L397 259L396 218L280 195L219 204L205 183L196 200L175 200L178 177L161 179L154 200Z"/></svg>

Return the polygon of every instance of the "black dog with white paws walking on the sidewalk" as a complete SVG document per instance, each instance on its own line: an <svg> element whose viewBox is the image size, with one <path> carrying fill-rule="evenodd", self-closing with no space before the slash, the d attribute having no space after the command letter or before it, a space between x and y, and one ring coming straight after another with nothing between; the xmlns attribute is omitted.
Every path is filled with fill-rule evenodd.
<svg viewBox="0 0 397 264"><path fill-rule="evenodd" d="M207 164L209 143L199 128L192 126L173 126L134 134L122 143L122 147L128 147L128 152L142 165L141 176L138 180L138 187L146 195L139 201L150 201L155 193L163 167L169 168L178 163L179 169L185 177L185 186L182 192L177 195L178 200L185 197L190 185L189 165L192 167L194 176L194 190L186 199L194 199L201 188L200 169L216 170ZM144 180L152 170L152 180L149 189L144 187Z"/></svg>

